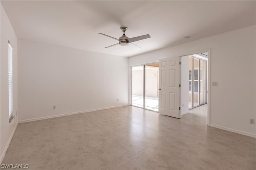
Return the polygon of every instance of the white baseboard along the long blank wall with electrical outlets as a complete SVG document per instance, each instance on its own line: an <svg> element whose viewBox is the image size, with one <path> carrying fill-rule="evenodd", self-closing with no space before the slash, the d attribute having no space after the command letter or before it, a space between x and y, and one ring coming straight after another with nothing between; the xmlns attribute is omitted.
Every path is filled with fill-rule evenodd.
<svg viewBox="0 0 256 170"><path fill-rule="evenodd" d="M54 118L54 117L62 117L62 116L86 113L86 112L91 112L91 111L111 109L111 108L116 108L116 107L124 107L124 106L129 106L129 105L125 104L125 105L119 105L119 106L103 107L103 108L99 108L99 109L91 109L91 110L78 111L78 112L73 112L73 113L64 113L64 114L60 114L60 115L52 115L52 116L46 116L46 117L38 117L38 118L33 118L33 119L20 120L18 122L19 123L26 123L26 122L30 122L30 121L44 120L44 119L50 119L50 118Z"/></svg>

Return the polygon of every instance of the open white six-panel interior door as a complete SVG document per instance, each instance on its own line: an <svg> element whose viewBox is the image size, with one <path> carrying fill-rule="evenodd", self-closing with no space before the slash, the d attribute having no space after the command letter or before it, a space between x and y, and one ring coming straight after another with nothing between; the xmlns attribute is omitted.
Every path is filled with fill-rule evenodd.
<svg viewBox="0 0 256 170"><path fill-rule="evenodd" d="M159 60L158 113L176 118L180 115L180 57Z"/></svg>

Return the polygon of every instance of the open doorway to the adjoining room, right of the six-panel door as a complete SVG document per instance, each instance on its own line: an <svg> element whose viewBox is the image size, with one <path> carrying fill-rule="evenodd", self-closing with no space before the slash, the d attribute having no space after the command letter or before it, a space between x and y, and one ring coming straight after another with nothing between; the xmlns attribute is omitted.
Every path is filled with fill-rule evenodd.
<svg viewBox="0 0 256 170"><path fill-rule="evenodd" d="M208 52L182 56L181 63L181 114L200 110L200 115L207 116Z"/></svg>

